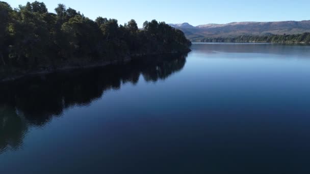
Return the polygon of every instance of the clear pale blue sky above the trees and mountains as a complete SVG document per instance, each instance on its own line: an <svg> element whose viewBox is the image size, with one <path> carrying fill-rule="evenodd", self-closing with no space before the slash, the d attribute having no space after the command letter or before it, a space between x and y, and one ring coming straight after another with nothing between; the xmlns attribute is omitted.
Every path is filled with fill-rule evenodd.
<svg viewBox="0 0 310 174"><path fill-rule="evenodd" d="M28 1L10 0L13 8ZM30 1L33 2L33 1ZM50 12L57 4L65 4L85 16L116 18L119 24L135 19L139 26L145 20L166 23L189 22L192 25L240 21L310 20L310 0L41 0Z"/></svg>

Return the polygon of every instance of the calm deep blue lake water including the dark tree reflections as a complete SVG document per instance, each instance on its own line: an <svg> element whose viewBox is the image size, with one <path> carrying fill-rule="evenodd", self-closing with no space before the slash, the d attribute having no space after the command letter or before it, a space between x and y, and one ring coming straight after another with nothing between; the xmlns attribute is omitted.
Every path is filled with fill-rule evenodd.
<svg viewBox="0 0 310 174"><path fill-rule="evenodd" d="M0 90L0 173L310 173L310 46L193 44Z"/></svg>

